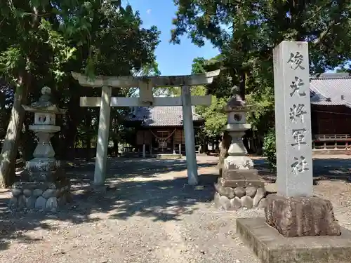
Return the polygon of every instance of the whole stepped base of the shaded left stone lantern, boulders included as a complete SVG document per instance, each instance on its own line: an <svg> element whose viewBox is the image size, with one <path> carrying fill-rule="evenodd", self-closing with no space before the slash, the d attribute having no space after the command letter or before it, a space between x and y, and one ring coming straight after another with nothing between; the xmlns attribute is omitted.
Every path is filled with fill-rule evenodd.
<svg viewBox="0 0 351 263"><path fill-rule="evenodd" d="M69 178L60 161L34 158L26 163L20 182L13 184L10 208L55 211L72 201Z"/></svg>

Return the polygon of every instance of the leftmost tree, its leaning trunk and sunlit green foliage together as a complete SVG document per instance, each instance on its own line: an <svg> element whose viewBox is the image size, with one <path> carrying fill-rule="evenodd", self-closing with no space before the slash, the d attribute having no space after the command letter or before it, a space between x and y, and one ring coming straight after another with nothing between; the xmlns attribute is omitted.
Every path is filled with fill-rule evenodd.
<svg viewBox="0 0 351 263"><path fill-rule="evenodd" d="M22 104L27 103L29 90L37 78L34 70L40 67L59 76L62 64L72 58L74 52L74 48L52 30L50 20L58 14L58 8L48 8L46 2L1 1L0 4L0 75L15 87L0 157L0 184L3 186L11 183L11 174L14 174L25 116ZM67 14L62 10L63 19Z"/></svg>

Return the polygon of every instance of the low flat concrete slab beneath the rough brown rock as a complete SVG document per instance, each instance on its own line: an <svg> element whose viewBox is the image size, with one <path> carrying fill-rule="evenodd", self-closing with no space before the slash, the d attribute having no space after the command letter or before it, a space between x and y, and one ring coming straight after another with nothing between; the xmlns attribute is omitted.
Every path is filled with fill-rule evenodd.
<svg viewBox="0 0 351 263"><path fill-rule="evenodd" d="M351 231L343 227L340 236L286 238L264 217L240 218L237 234L263 263L351 262Z"/></svg>

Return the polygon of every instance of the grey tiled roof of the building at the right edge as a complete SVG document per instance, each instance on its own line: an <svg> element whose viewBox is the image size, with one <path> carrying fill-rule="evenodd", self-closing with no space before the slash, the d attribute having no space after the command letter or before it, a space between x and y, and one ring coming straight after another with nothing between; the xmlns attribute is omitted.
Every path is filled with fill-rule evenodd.
<svg viewBox="0 0 351 263"><path fill-rule="evenodd" d="M311 104L351 107L351 75L325 73L310 79Z"/></svg>

